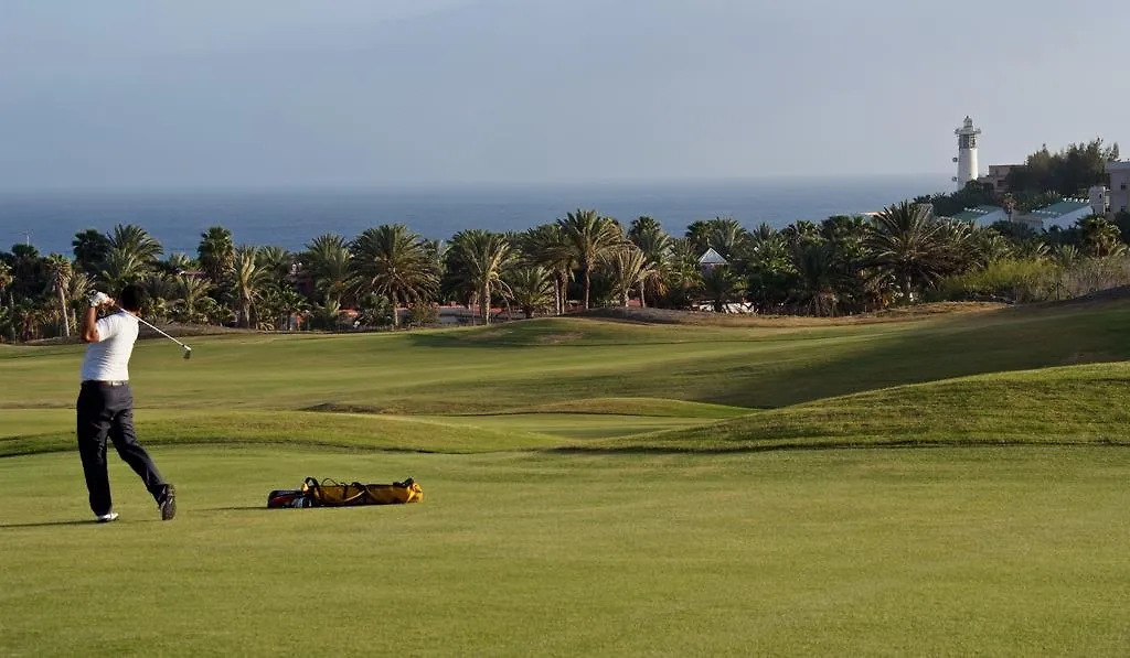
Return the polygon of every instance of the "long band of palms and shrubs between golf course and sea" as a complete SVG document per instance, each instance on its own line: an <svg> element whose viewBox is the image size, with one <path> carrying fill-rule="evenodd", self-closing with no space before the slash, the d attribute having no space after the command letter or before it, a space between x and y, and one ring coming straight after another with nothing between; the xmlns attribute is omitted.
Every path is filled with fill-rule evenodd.
<svg viewBox="0 0 1130 658"><path fill-rule="evenodd" d="M153 322L262 331L432 324L437 304L475 308L486 323L493 308L532 317L629 304L837 316L940 299L1064 298L1130 283L1122 231L1104 218L1037 235L1009 222L939 218L912 201L783 229L715 218L683 236L649 217L625 227L577 210L521 233L468 229L445 243L391 223L351 239L321 235L293 253L237 246L216 226L202 233L195 257L165 256L144 228L120 225L81 231L72 247L72 256L43 256L28 245L0 253L3 340L72 335L93 290L113 293L125 283L145 287ZM707 248L727 264L699 266Z"/></svg>

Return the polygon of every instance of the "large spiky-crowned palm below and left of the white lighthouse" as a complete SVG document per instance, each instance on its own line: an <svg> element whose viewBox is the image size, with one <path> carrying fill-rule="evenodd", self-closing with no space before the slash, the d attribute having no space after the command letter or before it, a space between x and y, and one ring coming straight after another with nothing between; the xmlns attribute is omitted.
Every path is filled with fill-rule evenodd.
<svg viewBox="0 0 1130 658"><path fill-rule="evenodd" d="M915 286L931 284L945 271L942 225L930 216L927 204L889 205L875 217L864 240L869 263L893 277L907 300L913 299Z"/></svg>

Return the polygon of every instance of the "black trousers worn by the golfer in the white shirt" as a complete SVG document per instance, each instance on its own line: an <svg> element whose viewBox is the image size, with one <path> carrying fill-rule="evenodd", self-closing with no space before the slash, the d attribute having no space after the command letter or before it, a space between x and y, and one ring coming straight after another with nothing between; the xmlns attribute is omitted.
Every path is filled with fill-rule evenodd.
<svg viewBox="0 0 1130 658"><path fill-rule="evenodd" d="M84 381L77 407L78 453L94 514L101 516L113 509L106 473L106 437L114 442L118 455L141 476L153 499L160 503L166 491L165 480L133 432L133 389L130 385Z"/></svg>

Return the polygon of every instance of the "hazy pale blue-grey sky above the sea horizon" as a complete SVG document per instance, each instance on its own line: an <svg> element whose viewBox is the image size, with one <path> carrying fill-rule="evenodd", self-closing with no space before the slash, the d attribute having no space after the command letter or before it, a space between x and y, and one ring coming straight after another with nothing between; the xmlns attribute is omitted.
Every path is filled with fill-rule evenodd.
<svg viewBox="0 0 1130 658"><path fill-rule="evenodd" d="M966 114L982 169L1130 140L1130 2L1069 5L0 0L0 190L937 173Z"/></svg>

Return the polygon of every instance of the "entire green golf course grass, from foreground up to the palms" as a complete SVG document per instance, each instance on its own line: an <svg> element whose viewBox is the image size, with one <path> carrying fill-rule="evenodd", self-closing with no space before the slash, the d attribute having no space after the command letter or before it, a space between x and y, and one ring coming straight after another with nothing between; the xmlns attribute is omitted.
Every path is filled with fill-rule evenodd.
<svg viewBox="0 0 1130 658"><path fill-rule="evenodd" d="M0 656L1130 655L1130 304L727 324L145 341L105 526L0 345Z"/></svg>

